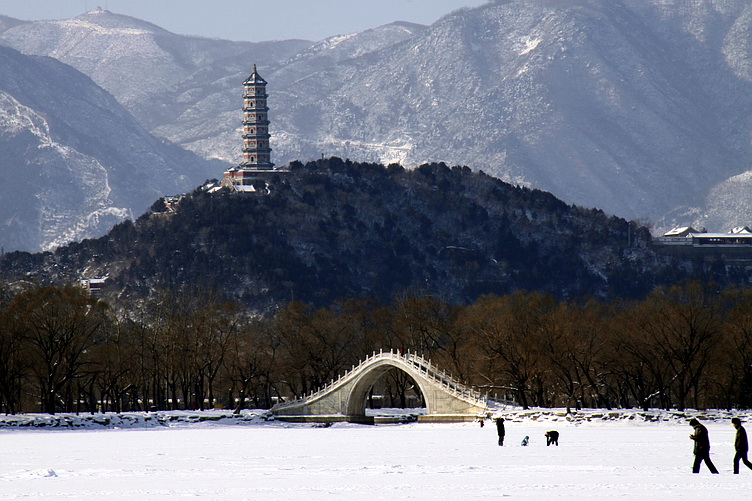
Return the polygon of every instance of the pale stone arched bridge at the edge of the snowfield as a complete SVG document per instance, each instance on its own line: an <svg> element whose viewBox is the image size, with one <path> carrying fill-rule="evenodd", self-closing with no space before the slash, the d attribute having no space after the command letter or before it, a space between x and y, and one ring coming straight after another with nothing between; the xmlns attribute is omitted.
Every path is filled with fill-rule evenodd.
<svg viewBox="0 0 752 501"><path fill-rule="evenodd" d="M275 405L272 414L287 421L372 423L373 418L366 416L366 398L374 383L393 368L409 375L423 394L426 414L418 418L420 422L472 421L488 412L488 402L479 392L440 371L430 360L390 351L374 353L315 393Z"/></svg>

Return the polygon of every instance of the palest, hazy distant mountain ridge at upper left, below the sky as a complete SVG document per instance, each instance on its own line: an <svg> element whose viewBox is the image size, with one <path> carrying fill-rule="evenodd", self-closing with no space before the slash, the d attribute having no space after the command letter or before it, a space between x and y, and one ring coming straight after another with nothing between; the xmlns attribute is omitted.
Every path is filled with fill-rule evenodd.
<svg viewBox="0 0 752 501"><path fill-rule="evenodd" d="M305 41L231 42L176 35L136 18L93 11L72 19L35 21L5 30L0 43L59 59L87 74L126 107L162 92L216 61L288 57ZM249 68L255 60L245 59Z"/></svg>

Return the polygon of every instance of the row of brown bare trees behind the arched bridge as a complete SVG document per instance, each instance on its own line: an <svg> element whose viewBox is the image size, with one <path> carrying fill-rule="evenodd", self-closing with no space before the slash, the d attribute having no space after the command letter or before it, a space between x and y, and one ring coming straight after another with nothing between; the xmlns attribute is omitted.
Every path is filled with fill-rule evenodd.
<svg viewBox="0 0 752 501"><path fill-rule="evenodd" d="M640 301L538 293L467 306L409 297L252 317L211 294L114 308L78 288L40 287L0 309L4 412L269 407L379 349L421 353L522 406L752 405L752 291L699 283ZM375 393L406 403L397 370Z"/></svg>

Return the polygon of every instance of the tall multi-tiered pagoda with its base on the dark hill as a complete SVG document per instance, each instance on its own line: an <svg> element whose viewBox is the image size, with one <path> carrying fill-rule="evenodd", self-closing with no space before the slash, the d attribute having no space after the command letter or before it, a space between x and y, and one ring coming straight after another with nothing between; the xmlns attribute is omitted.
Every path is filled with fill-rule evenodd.
<svg viewBox="0 0 752 501"><path fill-rule="evenodd" d="M275 169L269 144L269 107L266 80L253 65L253 73L243 82L243 161L224 173L222 185L235 191L253 192L258 181L272 174L287 172ZM255 186L254 186L255 185Z"/></svg>

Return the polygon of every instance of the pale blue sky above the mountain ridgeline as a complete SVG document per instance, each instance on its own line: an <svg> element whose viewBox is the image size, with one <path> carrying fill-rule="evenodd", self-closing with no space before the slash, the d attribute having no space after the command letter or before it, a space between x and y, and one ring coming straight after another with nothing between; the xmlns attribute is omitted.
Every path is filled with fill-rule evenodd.
<svg viewBox="0 0 752 501"><path fill-rule="evenodd" d="M431 24L487 0L0 0L17 19L65 19L97 6L174 33L230 40L320 40L392 21ZM261 20L265 20L262 22Z"/></svg>

